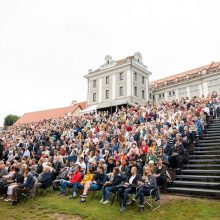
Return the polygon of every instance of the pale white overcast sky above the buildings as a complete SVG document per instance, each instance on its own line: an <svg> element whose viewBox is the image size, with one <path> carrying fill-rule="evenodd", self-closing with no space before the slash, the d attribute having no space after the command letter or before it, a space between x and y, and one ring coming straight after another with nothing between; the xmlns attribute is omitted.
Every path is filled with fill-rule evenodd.
<svg viewBox="0 0 220 220"><path fill-rule="evenodd" d="M86 100L88 69L141 52L151 80L220 60L219 0L0 0L0 118Z"/></svg>

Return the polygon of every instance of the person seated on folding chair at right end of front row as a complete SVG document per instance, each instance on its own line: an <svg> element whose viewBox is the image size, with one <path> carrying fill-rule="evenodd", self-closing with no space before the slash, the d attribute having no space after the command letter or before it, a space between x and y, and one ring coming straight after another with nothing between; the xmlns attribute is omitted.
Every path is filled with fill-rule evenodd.
<svg viewBox="0 0 220 220"><path fill-rule="evenodd" d="M156 177L151 173L149 166L145 167L142 182L138 182L138 185L140 186L133 201L140 200L140 208L142 212L144 210L144 196L149 196L150 191L157 187Z"/></svg>

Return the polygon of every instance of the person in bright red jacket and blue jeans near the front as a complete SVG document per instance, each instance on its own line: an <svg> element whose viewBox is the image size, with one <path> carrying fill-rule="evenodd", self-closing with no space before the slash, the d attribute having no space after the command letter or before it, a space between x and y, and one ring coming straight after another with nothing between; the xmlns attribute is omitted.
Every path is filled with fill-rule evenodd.
<svg viewBox="0 0 220 220"><path fill-rule="evenodd" d="M73 172L70 176L69 176L69 180L61 180L60 181L60 195L66 195L66 190L68 186L73 186L73 183L80 183L81 179L82 179L82 175L81 175L81 167L77 166L75 169L75 172Z"/></svg>

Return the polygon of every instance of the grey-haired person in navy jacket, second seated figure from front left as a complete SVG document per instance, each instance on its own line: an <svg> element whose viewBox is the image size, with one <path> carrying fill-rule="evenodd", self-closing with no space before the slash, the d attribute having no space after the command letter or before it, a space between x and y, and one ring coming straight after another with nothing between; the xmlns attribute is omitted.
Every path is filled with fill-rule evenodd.
<svg viewBox="0 0 220 220"><path fill-rule="evenodd" d="M33 188L33 197L35 196L36 189L48 188L51 185L51 181L52 181L52 176L51 176L51 172L50 172L50 167L45 166L43 168L43 172L39 175L39 177L35 181L34 188Z"/></svg>

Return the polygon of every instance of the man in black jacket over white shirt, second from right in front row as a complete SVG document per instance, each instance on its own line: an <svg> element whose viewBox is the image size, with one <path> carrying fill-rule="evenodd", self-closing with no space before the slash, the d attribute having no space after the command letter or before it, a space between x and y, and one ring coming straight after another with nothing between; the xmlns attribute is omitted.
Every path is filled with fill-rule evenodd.
<svg viewBox="0 0 220 220"><path fill-rule="evenodd" d="M126 210L126 204L128 201L129 194L136 192L137 182L141 177L137 174L137 167L132 166L131 175L127 178L122 187L118 189L118 195L120 199L120 212Z"/></svg>

